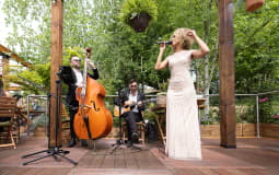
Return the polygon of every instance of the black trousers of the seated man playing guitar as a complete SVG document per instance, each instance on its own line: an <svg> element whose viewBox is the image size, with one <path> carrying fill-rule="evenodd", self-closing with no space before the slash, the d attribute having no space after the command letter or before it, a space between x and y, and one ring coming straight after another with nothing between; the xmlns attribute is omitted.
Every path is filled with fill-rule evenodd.
<svg viewBox="0 0 279 175"><path fill-rule="evenodd" d="M136 122L139 122L142 120L142 116L140 113L135 113L135 112L126 112L123 114L123 117L127 124L127 138L128 140L131 140L131 133L137 132L137 125Z"/></svg>

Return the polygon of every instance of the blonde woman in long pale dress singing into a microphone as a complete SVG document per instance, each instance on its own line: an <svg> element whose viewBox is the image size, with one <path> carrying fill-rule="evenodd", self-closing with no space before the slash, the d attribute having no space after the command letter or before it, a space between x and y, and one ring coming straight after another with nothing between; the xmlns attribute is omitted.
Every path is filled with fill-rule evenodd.
<svg viewBox="0 0 279 175"><path fill-rule="evenodd" d="M179 160L201 160L197 96L189 68L191 59L204 57L209 48L189 28L177 28L171 39L174 54L162 61L165 44L161 44L155 63L155 70L166 66L171 70L166 95L165 153ZM197 42L199 49L190 49L194 42Z"/></svg>

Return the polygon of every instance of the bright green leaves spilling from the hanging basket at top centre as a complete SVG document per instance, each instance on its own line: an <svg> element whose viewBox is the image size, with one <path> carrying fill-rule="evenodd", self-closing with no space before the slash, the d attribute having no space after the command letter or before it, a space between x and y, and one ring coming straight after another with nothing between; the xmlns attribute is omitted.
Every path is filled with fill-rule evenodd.
<svg viewBox="0 0 279 175"><path fill-rule="evenodd" d="M153 21L158 18L158 5L154 0L125 0L119 13L120 20L129 24L129 21L141 12L148 13Z"/></svg>

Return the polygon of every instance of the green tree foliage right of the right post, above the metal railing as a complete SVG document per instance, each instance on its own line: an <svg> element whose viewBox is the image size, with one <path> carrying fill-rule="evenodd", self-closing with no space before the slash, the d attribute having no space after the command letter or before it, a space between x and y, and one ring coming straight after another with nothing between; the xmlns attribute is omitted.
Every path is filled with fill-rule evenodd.
<svg viewBox="0 0 279 175"><path fill-rule="evenodd" d="M266 1L254 13L237 9L235 27L236 93L276 90L279 69L278 1Z"/></svg>

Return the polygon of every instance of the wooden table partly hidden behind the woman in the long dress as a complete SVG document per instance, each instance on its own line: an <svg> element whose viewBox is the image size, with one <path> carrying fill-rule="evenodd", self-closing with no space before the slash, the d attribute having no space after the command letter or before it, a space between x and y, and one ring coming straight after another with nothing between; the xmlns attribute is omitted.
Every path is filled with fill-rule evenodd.
<svg viewBox="0 0 279 175"><path fill-rule="evenodd" d="M197 100L197 104L198 104L199 109L205 108L205 105L204 105L205 102L206 102L206 98L204 98L204 97ZM155 120L156 120L156 125L158 125L158 129L159 129L160 139L162 140L162 142L165 147L166 138L165 138L165 131L164 131L163 128L165 128L164 122L166 122L165 121L166 106L155 106L152 110L155 113Z"/></svg>

